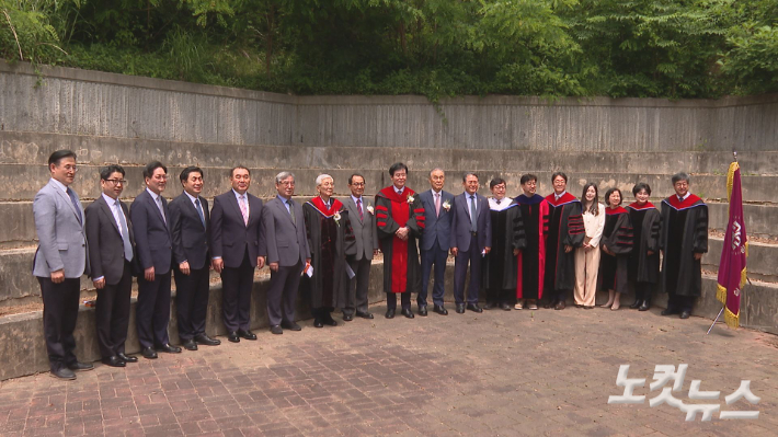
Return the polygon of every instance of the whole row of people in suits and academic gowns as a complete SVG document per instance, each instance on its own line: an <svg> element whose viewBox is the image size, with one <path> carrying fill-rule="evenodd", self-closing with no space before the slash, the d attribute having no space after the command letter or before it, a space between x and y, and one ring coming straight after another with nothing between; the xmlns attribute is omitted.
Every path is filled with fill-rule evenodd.
<svg viewBox="0 0 778 437"><path fill-rule="evenodd" d="M205 332L209 271L222 281L222 319L227 340L256 340L251 332L251 291L255 269L271 271L267 318L273 334L299 331L295 321L298 289L309 299L313 326L373 319L368 284L373 257L384 253L385 317L392 319L400 295L400 313L413 319L411 292L417 292L417 313L427 315L431 276L433 311L446 315L444 276L449 253L455 258L456 312L485 309L546 308L562 310L571 290L575 304L593 308L595 291L609 291L604 307L616 310L620 295L634 284L632 308L648 310L652 289L661 283L670 294L663 314L688 318L700 296L700 258L707 252L707 207L688 192L689 176L673 176L675 195L650 202L651 187L639 183L636 202L622 208L618 188L598 200L596 184L586 184L581 198L568 193L568 176L552 175L553 193L536 193L537 176L520 179L523 193L506 196L506 182L489 183L487 198L478 191L479 176L462 176L462 193L444 191L445 172L430 172L431 189L405 186L408 166L389 169L392 184L366 198L365 177L348 177L351 195L333 197L334 179L320 174L318 196L305 204L293 199L295 175L275 177L277 196L267 203L248 193L248 168L230 170L231 187L214 198L201 193L204 172L184 169L183 193L170 203L162 196L168 169L158 161L144 169L146 189L131 206L119 199L126 185L121 165L100 172L102 194L85 210L70 187L77 157L58 150L49 157L49 183L35 196L33 211L39 246L33 275L41 284L44 332L52 375L75 379L90 370L73 350L80 277L88 275L98 290L95 319L102 361L114 367L136 363L125 354L129 325L131 277L137 276L136 326L141 355L181 353L171 345L171 279L175 280L178 333L188 350L216 346ZM660 275L660 253L662 274ZM466 278L470 272L469 281ZM467 295L466 295L467 288Z"/></svg>

